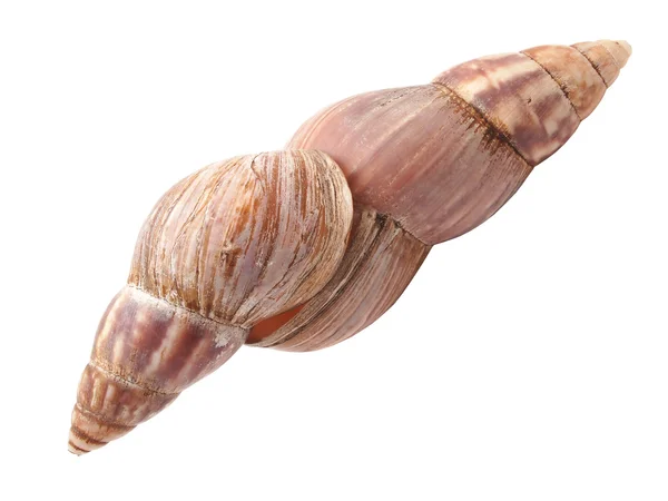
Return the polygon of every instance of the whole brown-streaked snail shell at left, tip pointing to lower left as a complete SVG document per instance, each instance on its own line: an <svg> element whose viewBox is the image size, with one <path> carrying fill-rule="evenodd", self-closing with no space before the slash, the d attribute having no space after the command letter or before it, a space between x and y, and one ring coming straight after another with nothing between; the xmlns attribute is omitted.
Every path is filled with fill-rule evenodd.
<svg viewBox="0 0 668 501"><path fill-rule="evenodd" d="M318 151L232 158L174 186L99 324L69 450L124 435L225 363L253 325L310 299L338 268L352 215L342 171Z"/></svg>

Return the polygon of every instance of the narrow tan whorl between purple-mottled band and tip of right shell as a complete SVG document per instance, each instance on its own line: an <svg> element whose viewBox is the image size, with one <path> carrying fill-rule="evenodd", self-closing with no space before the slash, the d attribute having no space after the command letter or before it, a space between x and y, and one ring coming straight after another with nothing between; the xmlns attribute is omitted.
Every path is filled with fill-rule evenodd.
<svg viewBox="0 0 668 501"><path fill-rule="evenodd" d="M561 87L580 119L587 118L606 94L606 85L589 60L567 46L540 46L523 51Z"/></svg>

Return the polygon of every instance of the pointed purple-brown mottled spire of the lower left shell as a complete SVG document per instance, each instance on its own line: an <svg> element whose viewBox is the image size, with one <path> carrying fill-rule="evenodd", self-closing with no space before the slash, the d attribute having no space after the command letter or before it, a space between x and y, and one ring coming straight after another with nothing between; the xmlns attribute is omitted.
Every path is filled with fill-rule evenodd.
<svg viewBox="0 0 668 501"><path fill-rule="evenodd" d="M72 411L69 451L116 440L223 365L248 331L126 286L100 322Z"/></svg>

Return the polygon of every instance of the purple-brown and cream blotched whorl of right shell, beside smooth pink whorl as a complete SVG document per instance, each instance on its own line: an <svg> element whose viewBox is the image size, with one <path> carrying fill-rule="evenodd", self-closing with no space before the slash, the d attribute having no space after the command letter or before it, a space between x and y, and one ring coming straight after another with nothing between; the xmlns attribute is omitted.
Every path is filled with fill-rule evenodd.
<svg viewBox="0 0 668 501"><path fill-rule="evenodd" d="M434 82L479 110L532 166L557 151L580 124L560 86L523 53L474 59Z"/></svg>

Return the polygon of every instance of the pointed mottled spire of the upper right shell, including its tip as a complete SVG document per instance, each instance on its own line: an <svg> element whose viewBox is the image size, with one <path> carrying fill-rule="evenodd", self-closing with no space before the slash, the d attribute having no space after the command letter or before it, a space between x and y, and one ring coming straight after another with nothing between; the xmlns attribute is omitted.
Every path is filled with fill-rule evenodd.
<svg viewBox="0 0 668 501"><path fill-rule="evenodd" d="M607 40L536 47L458 65L433 81L475 108L533 167L563 146L600 102L626 65L627 48Z"/></svg>

